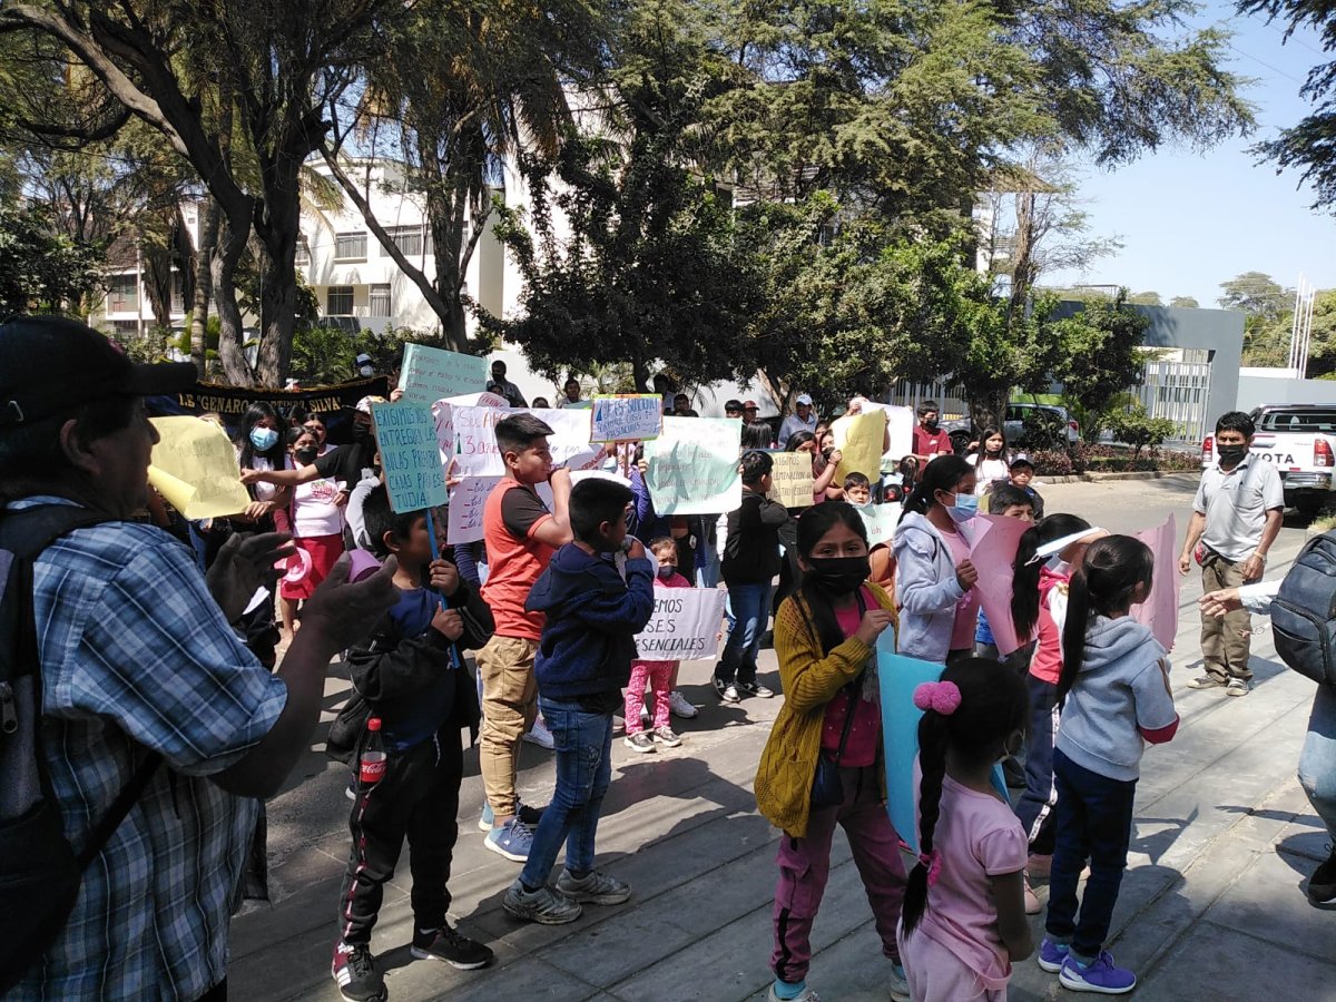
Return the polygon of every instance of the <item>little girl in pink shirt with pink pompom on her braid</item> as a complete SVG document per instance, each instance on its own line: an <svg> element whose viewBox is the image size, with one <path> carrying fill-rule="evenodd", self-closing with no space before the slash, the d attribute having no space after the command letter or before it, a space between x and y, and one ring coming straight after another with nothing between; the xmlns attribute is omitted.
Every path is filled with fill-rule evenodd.
<svg viewBox="0 0 1336 1002"><path fill-rule="evenodd" d="M1025 918L1025 832L993 787L1021 747L1026 695L997 661L966 657L914 691L919 862L899 930L914 1002L1006 998L1011 963L1034 953Z"/></svg>

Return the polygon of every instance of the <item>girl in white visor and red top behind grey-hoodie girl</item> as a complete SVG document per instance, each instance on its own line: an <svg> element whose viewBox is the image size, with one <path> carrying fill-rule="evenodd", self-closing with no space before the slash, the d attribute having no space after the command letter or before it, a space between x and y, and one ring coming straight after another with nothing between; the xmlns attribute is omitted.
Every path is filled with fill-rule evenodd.
<svg viewBox="0 0 1336 1002"><path fill-rule="evenodd" d="M1067 615L1067 582L1086 546L1104 529L1074 514L1050 514L1021 537L1011 577L1011 624L1018 639L1034 639L1026 685L1030 689L1030 727L1025 748L1025 790L1015 815L1030 839L1026 867L1026 911L1037 915L1039 899L1031 880L1049 875L1053 863L1054 808L1053 747L1058 739L1058 676L1062 673L1062 624Z"/></svg>

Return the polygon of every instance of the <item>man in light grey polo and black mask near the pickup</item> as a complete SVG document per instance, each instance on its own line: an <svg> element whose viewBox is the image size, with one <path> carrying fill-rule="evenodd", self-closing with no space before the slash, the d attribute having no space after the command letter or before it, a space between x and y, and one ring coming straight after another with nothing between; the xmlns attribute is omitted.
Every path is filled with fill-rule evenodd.
<svg viewBox="0 0 1336 1002"><path fill-rule="evenodd" d="M1193 550L1202 544L1202 591L1217 592L1261 580L1267 550L1280 532L1285 490L1276 468L1252 456L1253 421L1230 410L1216 422L1216 462L1201 473L1192 504L1188 538L1178 570L1192 569ZM1205 675L1188 683L1194 689L1221 687L1229 696L1246 696L1252 619L1245 609L1222 617L1202 617L1201 656Z"/></svg>

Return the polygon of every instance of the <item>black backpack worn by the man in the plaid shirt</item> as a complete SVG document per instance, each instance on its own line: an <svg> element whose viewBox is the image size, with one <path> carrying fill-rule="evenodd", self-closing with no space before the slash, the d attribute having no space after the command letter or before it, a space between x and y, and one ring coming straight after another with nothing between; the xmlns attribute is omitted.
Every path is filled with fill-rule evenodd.
<svg viewBox="0 0 1336 1002"><path fill-rule="evenodd" d="M0 512L0 995L49 949L79 895L83 871L130 812L162 762L150 754L76 856L61 827L41 752L41 663L32 565L72 529L107 521L72 505Z"/></svg>

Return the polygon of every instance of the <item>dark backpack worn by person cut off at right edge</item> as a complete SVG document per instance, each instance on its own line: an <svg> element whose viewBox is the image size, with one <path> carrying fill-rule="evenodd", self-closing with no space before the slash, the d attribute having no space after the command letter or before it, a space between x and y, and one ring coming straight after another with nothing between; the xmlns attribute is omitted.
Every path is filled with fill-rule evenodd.
<svg viewBox="0 0 1336 1002"><path fill-rule="evenodd" d="M1271 604L1276 653L1300 675L1336 685L1336 534L1308 541Z"/></svg>

